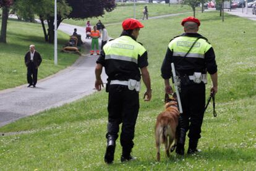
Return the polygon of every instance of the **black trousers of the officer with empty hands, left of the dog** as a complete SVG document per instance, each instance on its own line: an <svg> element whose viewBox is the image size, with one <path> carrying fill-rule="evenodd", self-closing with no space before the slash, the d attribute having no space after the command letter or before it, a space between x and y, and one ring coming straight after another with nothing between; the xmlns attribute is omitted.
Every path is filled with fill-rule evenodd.
<svg viewBox="0 0 256 171"><path fill-rule="evenodd" d="M110 85L108 96L108 133L118 137L119 124L122 123L120 142L123 149L134 146L134 129L139 113L139 93L128 86Z"/></svg>

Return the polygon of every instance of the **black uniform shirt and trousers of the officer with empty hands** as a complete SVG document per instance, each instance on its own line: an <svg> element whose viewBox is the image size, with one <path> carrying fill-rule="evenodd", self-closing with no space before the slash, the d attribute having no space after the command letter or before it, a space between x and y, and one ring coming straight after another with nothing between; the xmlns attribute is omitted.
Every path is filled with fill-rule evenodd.
<svg viewBox="0 0 256 171"><path fill-rule="evenodd" d="M129 36L123 33L121 36ZM104 47L105 48L105 47ZM127 81L134 79L140 81L139 68L147 67L147 51L137 58L137 64L121 59L106 59L105 51L101 51L97 64L105 67L108 75L108 141L115 141L118 137L119 124L122 123L121 146L123 153L130 155L134 146L134 128L139 112L139 92L129 90L127 85L109 85L111 80ZM110 160L111 161L111 160ZM108 161L107 161L108 162Z"/></svg>

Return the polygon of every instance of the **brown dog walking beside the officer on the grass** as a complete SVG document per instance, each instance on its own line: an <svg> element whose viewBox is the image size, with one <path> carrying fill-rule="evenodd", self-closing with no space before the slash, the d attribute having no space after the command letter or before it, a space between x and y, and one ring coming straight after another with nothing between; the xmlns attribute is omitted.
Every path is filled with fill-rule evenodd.
<svg viewBox="0 0 256 171"><path fill-rule="evenodd" d="M174 96L175 95L174 93ZM176 98L169 98L169 95L165 94L164 102L165 110L158 115L155 127L157 161L160 161L161 143L164 144L165 152L168 157L170 156L169 151L173 152L177 144L176 128L179 122L177 101Z"/></svg>

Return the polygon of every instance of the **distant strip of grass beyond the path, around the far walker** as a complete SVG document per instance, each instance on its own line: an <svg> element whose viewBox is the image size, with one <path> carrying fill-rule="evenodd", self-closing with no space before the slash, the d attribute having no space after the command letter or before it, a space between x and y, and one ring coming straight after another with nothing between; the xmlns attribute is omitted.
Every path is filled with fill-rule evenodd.
<svg viewBox="0 0 256 171"><path fill-rule="evenodd" d="M149 17L192 11L192 9L189 6L187 5L182 6L181 4L171 4L171 6L169 6L168 4L136 4L136 7L135 7L136 19L142 19L143 17L142 11L145 5L148 6ZM69 20L64 20L64 22L70 23L72 25L79 25L79 26L85 27L85 23L87 22L87 20L90 20L90 23L92 25L96 25L98 20L101 20L103 24L108 24L108 23L122 22L122 20L127 18L134 18L133 3L125 4L125 5L118 4L116 9L114 9L112 12L105 12L105 15L103 15L103 17L85 19L85 20L69 19Z"/></svg>

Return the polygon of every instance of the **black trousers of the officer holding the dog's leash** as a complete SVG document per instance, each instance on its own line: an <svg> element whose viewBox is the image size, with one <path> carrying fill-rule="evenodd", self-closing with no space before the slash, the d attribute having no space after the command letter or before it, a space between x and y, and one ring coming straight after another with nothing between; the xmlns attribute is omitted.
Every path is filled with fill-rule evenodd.
<svg viewBox="0 0 256 171"><path fill-rule="evenodd" d="M180 95L183 114L179 116L179 128L189 130L190 140L198 140L205 108L205 84L181 85Z"/></svg>

